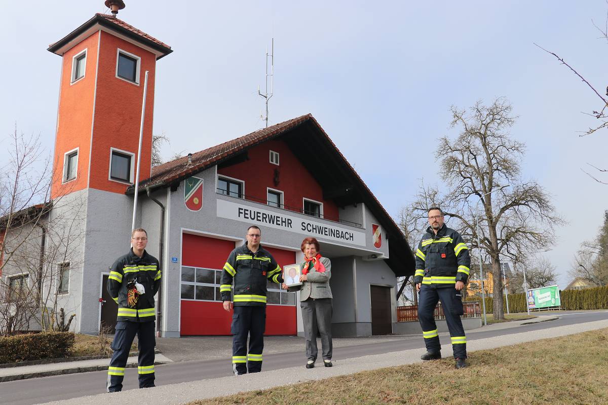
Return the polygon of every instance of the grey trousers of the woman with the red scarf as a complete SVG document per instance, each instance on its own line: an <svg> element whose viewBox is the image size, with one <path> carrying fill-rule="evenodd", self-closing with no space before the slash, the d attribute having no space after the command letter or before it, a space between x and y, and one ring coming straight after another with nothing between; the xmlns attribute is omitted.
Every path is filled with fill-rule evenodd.
<svg viewBox="0 0 608 405"><path fill-rule="evenodd" d="M319 350L317 349L317 330L321 335L321 350L323 360L331 360L333 354L333 343L331 341L331 315L333 305L331 298L308 298L300 302L302 308L302 323L304 326L304 338L306 339L306 358L316 360Z"/></svg>

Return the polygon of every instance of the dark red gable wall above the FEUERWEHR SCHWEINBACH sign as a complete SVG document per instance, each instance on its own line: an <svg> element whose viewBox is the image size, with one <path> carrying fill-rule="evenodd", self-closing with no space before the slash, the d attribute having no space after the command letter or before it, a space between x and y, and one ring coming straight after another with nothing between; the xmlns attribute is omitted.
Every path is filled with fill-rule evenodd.
<svg viewBox="0 0 608 405"><path fill-rule="evenodd" d="M270 163L270 151L278 152L280 165ZM338 220L338 208L331 200L323 200L323 191L305 165L295 157L282 140L269 140L249 149L249 160L228 168L218 169L218 174L245 182L245 199L266 201L266 188L283 191L283 203L292 208L303 208L302 198L323 203L323 217ZM275 185L275 169L279 183Z"/></svg>

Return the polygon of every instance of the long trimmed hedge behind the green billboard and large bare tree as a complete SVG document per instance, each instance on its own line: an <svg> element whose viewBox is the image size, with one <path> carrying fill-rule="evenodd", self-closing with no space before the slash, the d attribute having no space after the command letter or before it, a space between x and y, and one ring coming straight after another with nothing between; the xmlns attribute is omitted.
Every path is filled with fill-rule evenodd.
<svg viewBox="0 0 608 405"><path fill-rule="evenodd" d="M608 286L584 288L583 290L559 291L561 308L563 310L599 310L608 308ZM465 301L481 301L478 296L469 296ZM486 297L486 313L492 313L494 299ZM503 296L503 305L506 313L506 298ZM509 294L509 311L527 311L527 300L525 294Z"/></svg>

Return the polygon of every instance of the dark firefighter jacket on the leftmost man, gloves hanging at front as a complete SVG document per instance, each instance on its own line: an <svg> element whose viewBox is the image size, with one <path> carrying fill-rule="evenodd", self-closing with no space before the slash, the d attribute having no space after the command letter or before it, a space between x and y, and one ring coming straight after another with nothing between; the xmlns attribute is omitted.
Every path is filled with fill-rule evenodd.
<svg viewBox="0 0 608 405"><path fill-rule="evenodd" d="M133 282L143 285L145 291L137 295L137 302L129 305L129 289ZM120 256L110 268L108 293L118 304L118 321L154 321L154 295L161 287L161 264L156 257L143 251L139 257L133 248L125 256Z"/></svg>

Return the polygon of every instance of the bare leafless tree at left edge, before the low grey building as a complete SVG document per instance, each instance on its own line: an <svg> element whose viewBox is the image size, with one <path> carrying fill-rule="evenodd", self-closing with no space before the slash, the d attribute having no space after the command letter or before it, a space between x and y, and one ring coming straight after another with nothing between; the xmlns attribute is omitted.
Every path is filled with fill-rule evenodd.
<svg viewBox="0 0 608 405"><path fill-rule="evenodd" d="M64 186L63 194L50 201L55 176L39 138L19 135L16 128L11 137L10 158L2 168L4 175L0 181L3 334L30 328L59 328L64 310L60 304L66 300L60 297L58 288L61 282L58 264L64 264L66 257L72 261L74 257L82 257L74 253L83 236L83 203L73 196L65 198L72 191L71 186ZM68 328L69 324L70 320Z"/></svg>

